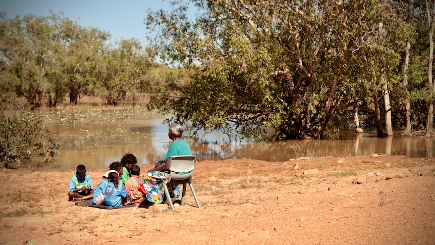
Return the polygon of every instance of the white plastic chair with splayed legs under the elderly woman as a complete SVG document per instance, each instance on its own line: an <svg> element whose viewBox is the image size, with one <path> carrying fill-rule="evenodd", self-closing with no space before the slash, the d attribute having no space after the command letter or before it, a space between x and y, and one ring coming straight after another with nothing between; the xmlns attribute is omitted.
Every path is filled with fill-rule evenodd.
<svg viewBox="0 0 435 245"><path fill-rule="evenodd" d="M169 207L174 211L171 197L167 185L183 184L183 192L181 194L181 205L184 205L184 198L186 195L186 184L189 183L190 190L192 191L193 198L195 199L196 206L200 208L198 199L196 198L195 190L192 185L193 169L195 169L196 156L174 156L169 161L169 179L164 186L166 199Z"/></svg>

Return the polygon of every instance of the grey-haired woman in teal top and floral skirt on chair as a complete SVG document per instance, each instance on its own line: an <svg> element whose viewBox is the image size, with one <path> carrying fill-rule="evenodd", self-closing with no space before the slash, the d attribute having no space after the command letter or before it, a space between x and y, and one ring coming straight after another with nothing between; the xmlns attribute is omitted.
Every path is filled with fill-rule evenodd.
<svg viewBox="0 0 435 245"><path fill-rule="evenodd" d="M168 136L173 142L169 145L163 161L148 170L143 176L143 183L146 192L146 199L152 203L161 203L164 201L163 187L167 183L169 173L169 160L174 156L192 155L189 144L183 138L184 128L180 124L172 124L169 127ZM171 198L177 198L180 195L179 186L168 186Z"/></svg>

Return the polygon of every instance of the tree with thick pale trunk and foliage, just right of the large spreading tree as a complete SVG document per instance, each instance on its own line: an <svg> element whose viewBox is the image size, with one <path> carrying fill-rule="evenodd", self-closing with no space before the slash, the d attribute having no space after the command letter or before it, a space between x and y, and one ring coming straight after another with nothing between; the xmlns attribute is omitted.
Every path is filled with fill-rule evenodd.
<svg viewBox="0 0 435 245"><path fill-rule="evenodd" d="M395 1L380 1L367 13L371 35L364 38L364 44L356 52L364 67L359 76L366 83L360 89L369 89L367 94L372 98L365 111L373 115L378 136L393 135L392 113L402 102L399 64L408 29L399 9Z"/></svg>

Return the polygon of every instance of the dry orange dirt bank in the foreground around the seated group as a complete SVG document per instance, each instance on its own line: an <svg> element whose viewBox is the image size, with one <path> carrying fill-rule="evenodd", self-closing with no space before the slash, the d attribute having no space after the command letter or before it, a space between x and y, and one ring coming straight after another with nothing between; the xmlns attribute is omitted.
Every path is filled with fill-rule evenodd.
<svg viewBox="0 0 435 245"><path fill-rule="evenodd" d="M139 165L142 173L150 165ZM88 173L94 185L106 169ZM0 170L6 244L433 244L435 159L197 162L186 205L103 210L68 202L73 171Z"/></svg>

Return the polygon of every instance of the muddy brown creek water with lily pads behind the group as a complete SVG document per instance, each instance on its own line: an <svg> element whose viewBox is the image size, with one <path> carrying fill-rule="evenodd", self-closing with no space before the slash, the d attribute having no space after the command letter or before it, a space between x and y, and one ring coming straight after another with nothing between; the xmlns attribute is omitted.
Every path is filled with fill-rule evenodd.
<svg viewBox="0 0 435 245"><path fill-rule="evenodd" d="M42 108L32 111L44 125L57 133L62 150L52 163L59 170L107 168L126 153L134 154L139 164L161 160L171 140L164 117L138 106L84 106ZM409 157L433 157L435 138L405 138L400 132L386 138L365 129L363 134L342 131L340 140L285 140L254 142L229 140L227 135L199 134L187 138L198 161L248 158L282 162L299 157L343 157L349 155L390 154Z"/></svg>

